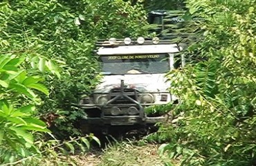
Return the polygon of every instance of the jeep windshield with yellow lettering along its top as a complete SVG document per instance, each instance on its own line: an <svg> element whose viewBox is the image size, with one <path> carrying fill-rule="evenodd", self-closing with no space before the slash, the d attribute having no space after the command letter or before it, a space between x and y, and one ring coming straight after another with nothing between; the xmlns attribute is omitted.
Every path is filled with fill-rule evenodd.
<svg viewBox="0 0 256 166"><path fill-rule="evenodd" d="M101 55L104 75L166 73L170 71L169 55Z"/></svg>

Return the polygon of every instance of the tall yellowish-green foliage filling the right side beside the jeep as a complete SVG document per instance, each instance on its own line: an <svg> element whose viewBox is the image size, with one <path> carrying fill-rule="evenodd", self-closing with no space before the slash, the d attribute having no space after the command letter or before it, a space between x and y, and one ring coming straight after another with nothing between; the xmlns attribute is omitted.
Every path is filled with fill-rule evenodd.
<svg viewBox="0 0 256 166"><path fill-rule="evenodd" d="M161 147L181 165L255 164L255 1L188 1L205 21L204 38L188 53L203 59L172 71L181 103ZM201 35L201 34L199 34Z"/></svg>

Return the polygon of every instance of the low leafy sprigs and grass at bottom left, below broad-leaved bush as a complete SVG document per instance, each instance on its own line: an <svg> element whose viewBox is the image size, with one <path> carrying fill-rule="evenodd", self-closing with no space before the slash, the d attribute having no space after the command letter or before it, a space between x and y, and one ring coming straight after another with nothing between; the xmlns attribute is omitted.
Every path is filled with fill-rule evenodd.
<svg viewBox="0 0 256 166"><path fill-rule="evenodd" d="M42 156L33 154L21 158L20 160L11 161L6 165L77 165L77 160L72 158L74 154L85 155L90 149L91 142L97 142L98 138L93 135L69 138L68 140L38 140L35 142ZM79 151L77 151L79 149Z"/></svg>

